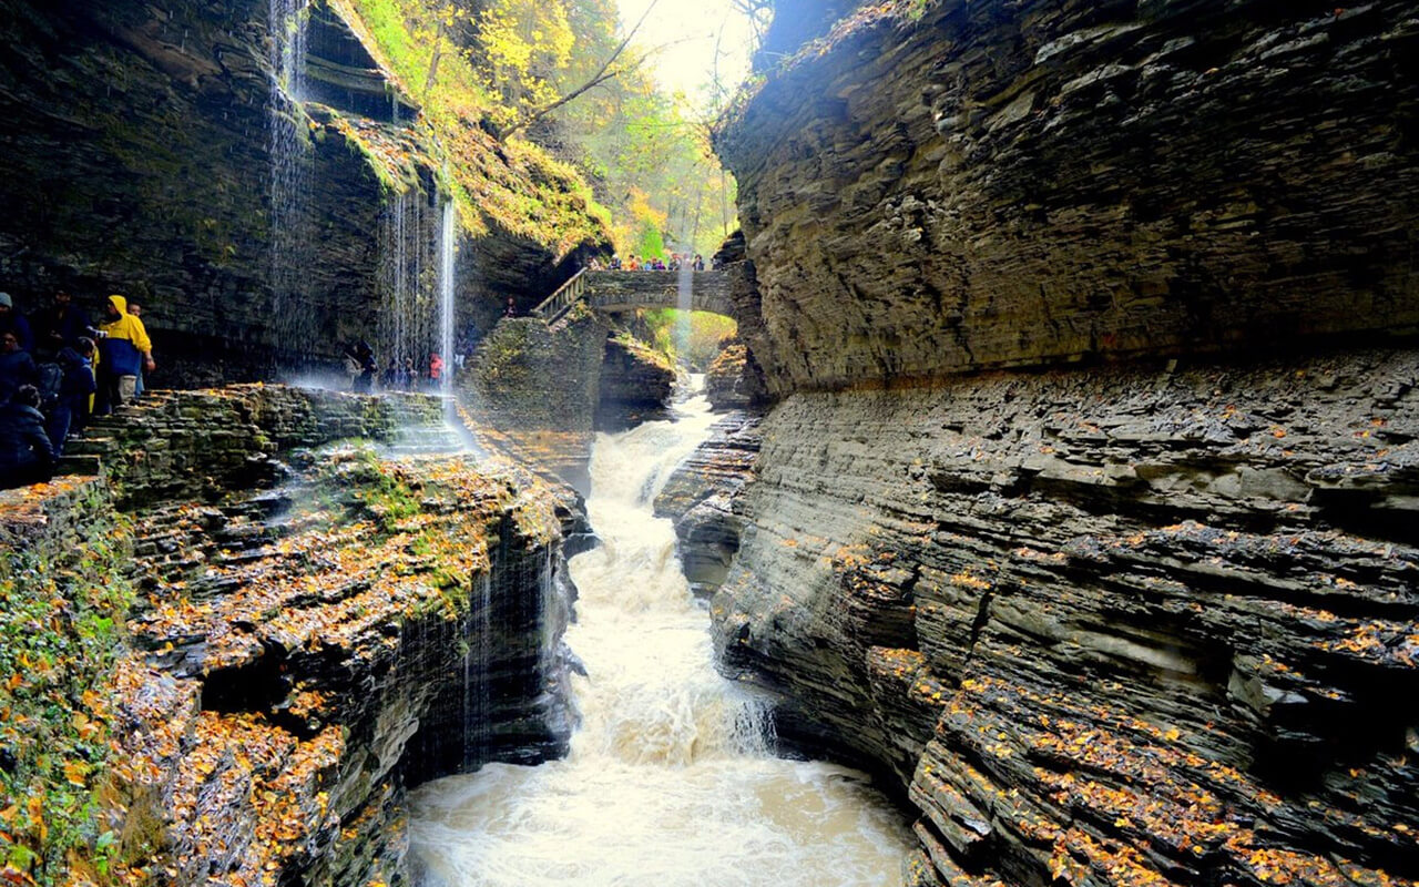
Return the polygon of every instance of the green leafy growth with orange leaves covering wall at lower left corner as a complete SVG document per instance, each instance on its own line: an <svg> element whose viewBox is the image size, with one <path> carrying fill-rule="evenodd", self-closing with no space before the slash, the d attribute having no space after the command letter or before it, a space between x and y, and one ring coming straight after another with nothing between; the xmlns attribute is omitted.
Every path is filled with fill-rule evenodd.
<svg viewBox="0 0 1419 887"><path fill-rule="evenodd" d="M95 688L122 651L132 536L96 492L71 508L77 542L0 558L0 866L45 886L104 883L116 853L101 803L111 725Z"/></svg>

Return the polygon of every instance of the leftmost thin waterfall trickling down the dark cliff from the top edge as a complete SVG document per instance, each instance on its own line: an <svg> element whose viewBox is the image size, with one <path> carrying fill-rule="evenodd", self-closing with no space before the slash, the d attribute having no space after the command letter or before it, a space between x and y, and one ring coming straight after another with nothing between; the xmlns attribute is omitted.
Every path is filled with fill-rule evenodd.
<svg viewBox="0 0 1419 887"><path fill-rule="evenodd" d="M271 319L277 346L301 353L315 334L308 309L311 143L305 136L305 43L309 0L270 0L268 150Z"/></svg>

